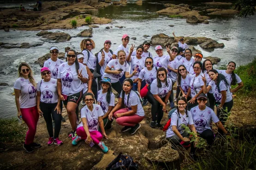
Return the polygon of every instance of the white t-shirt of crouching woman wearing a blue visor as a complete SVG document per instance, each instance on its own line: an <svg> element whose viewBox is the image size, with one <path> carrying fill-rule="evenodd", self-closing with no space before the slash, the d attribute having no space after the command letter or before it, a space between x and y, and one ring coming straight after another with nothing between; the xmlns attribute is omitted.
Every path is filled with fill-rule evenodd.
<svg viewBox="0 0 256 170"><path fill-rule="evenodd" d="M111 93L110 103L107 103L107 93L102 94L102 90L99 90L97 101L100 103L101 109L105 115L108 111L108 106L115 106L115 95Z"/></svg>

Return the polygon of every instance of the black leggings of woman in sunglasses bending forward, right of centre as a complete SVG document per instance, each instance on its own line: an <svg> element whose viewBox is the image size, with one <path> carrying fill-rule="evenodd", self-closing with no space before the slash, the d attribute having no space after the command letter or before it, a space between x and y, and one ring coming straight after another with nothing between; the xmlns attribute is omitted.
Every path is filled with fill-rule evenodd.
<svg viewBox="0 0 256 170"><path fill-rule="evenodd" d="M160 124L164 115L163 106L157 100L155 100L150 90L147 93L147 98L149 103L152 104L151 106L152 121L156 120L156 123ZM164 101L164 98L162 98L161 100Z"/></svg>

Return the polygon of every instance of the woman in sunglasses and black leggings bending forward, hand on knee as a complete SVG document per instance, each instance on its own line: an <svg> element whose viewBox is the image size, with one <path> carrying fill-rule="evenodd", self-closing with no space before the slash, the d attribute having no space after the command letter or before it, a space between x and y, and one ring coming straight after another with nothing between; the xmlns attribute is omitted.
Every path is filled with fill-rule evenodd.
<svg viewBox="0 0 256 170"><path fill-rule="evenodd" d="M160 123L164 111L167 112L166 104L171 95L172 80L167 77L167 70L163 67L157 70L156 75L157 77L150 84L150 90L147 93L149 103L152 104L152 122L150 123L150 127L162 128Z"/></svg>

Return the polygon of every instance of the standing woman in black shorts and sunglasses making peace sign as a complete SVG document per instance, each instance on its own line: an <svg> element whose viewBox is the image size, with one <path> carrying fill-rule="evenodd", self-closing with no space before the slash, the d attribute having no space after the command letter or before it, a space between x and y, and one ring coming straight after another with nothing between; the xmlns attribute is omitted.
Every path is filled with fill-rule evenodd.
<svg viewBox="0 0 256 170"><path fill-rule="evenodd" d="M59 98L67 110L72 139L75 138L77 129L76 107L82 100L83 83L86 82L88 82L88 74L84 65L78 62L75 50L68 50L67 62L61 64L59 68L57 88Z"/></svg>

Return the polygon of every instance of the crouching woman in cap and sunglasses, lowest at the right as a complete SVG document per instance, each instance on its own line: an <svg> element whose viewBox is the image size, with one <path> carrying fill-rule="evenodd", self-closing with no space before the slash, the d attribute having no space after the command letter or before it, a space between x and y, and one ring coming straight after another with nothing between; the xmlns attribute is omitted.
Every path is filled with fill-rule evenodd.
<svg viewBox="0 0 256 170"><path fill-rule="evenodd" d="M207 103L207 97L205 94L200 94L197 97L197 103L198 106L193 107L190 110L196 132L201 138L207 141L208 145L212 145L214 142L214 133L210 128L211 120L225 134L227 134L227 131L224 128L223 124L220 122L219 118L214 113L214 111L211 108L205 106L205 104Z"/></svg>

